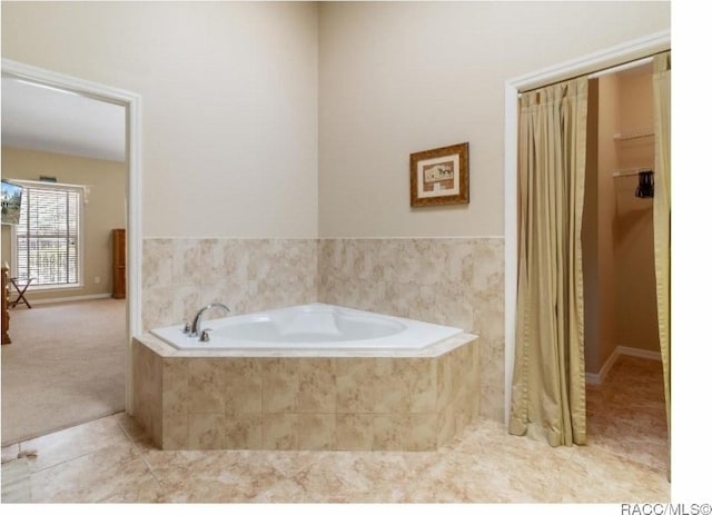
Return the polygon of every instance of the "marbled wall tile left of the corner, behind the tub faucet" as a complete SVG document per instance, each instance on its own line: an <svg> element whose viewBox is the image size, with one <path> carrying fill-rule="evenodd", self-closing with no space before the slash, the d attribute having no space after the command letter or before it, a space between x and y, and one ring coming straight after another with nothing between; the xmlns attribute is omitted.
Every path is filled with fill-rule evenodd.
<svg viewBox="0 0 712 515"><path fill-rule="evenodd" d="M142 327L192 319L214 301L238 314L315 303L317 247L316 239L145 239Z"/></svg>

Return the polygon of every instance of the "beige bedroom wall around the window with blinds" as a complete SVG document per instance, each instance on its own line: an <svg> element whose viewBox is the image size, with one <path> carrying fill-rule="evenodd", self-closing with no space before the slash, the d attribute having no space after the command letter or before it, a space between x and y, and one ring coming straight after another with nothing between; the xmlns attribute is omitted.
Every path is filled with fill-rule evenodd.
<svg viewBox="0 0 712 515"><path fill-rule="evenodd" d="M40 175L57 177L58 182L91 187L89 202L83 205L83 283L82 288L28 293L28 299L50 299L110 294L111 229L126 227L126 165L118 161L88 159L61 153L38 152L2 147L2 177L38 180ZM11 263L10 226L2 226L2 263ZM93 278L100 283L95 284Z"/></svg>

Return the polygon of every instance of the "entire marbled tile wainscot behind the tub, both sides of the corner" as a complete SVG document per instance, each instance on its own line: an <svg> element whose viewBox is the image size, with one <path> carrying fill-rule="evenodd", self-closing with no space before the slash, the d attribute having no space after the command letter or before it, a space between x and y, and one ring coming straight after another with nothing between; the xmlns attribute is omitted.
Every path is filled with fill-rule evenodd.
<svg viewBox="0 0 712 515"><path fill-rule="evenodd" d="M478 335L479 415L504 420L503 238L149 238L142 281L145 330L216 300L237 314L318 301L462 327Z"/></svg>

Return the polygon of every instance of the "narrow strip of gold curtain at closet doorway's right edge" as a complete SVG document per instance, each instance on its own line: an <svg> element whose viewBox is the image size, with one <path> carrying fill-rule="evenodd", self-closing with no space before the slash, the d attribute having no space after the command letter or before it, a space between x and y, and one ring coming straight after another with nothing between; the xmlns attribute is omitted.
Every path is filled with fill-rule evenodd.
<svg viewBox="0 0 712 515"><path fill-rule="evenodd" d="M665 382L665 408L670 437L670 52L653 58L655 116L655 196L653 245L657 294L657 329Z"/></svg>

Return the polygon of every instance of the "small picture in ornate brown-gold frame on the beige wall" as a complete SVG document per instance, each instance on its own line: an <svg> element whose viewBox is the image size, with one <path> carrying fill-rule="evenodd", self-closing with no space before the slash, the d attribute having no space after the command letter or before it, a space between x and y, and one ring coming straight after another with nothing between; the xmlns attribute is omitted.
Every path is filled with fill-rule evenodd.
<svg viewBox="0 0 712 515"><path fill-rule="evenodd" d="M468 143L411 153L411 206L469 204Z"/></svg>

